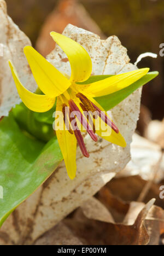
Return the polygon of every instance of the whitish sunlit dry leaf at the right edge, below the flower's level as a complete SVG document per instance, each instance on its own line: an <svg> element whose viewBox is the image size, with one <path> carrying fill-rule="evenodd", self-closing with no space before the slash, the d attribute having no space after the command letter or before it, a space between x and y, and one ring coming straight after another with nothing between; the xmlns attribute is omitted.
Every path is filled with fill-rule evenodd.
<svg viewBox="0 0 164 256"><path fill-rule="evenodd" d="M148 141L148 139L140 137L135 133L131 143L132 159L117 177L140 175L147 181L153 178L154 182L159 183L164 178L164 155L161 159L161 154L159 144ZM156 165L159 164L159 160L159 168L155 170Z"/></svg>

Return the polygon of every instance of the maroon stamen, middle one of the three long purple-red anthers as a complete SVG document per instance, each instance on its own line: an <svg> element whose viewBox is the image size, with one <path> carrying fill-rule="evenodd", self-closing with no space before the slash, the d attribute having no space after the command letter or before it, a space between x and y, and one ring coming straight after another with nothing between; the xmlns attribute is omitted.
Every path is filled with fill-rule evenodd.
<svg viewBox="0 0 164 256"><path fill-rule="evenodd" d="M84 126L85 130L87 131L87 133L89 133L89 135L91 136L91 138L93 139L93 141L97 142L97 136L95 135L95 133L92 131L91 126L87 123L86 119L83 118L83 114L81 114L79 108L77 107L77 105L74 103L73 100L69 101L69 106L71 107L71 109L73 111L77 111L80 114L80 118L79 115L77 115L77 118L79 119L80 123Z"/></svg>

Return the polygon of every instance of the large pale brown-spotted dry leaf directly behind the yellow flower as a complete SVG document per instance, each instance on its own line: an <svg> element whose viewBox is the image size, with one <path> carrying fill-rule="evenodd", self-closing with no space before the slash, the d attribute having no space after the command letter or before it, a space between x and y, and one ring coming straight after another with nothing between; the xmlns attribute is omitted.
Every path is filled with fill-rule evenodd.
<svg viewBox="0 0 164 256"><path fill-rule="evenodd" d="M109 37L107 40L101 40L95 34L72 25L68 25L63 33L79 42L88 51L93 63L92 74L118 74L136 69L129 63L127 50L115 36ZM63 59L66 59L66 55L58 46L48 56L48 60L56 68L70 75L70 65L68 62L62 61ZM27 74L28 79L31 79L31 73ZM31 200L22 203L17 208L20 230L19 235L17 235L19 238L12 237L11 234L11 240L15 240L15 243L17 243L24 236L23 234L26 234L24 243L35 241L45 231L51 229L67 214L89 199L125 167L130 160L130 143L132 134L136 129L140 95L141 89L134 92L112 110L113 120L125 137L127 147L123 149L102 139L95 143L88 136L85 136L90 158L83 158L78 149L77 177L71 181L67 176L65 164L62 163L42 187L39 200L36 203L36 212L31 222L31 230L29 230L29 225L21 224L21 219L24 218L24 223L26 223L25 220L28 220L30 214L27 210L27 216L25 216L25 208L30 208L31 200L36 199L32 196ZM8 223L9 220L4 223L2 232L4 229L8 229Z"/></svg>

